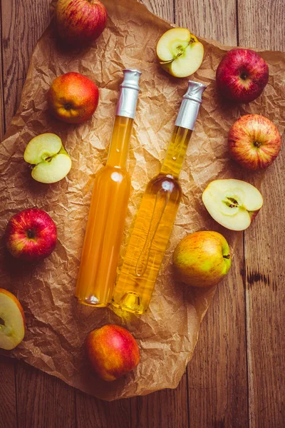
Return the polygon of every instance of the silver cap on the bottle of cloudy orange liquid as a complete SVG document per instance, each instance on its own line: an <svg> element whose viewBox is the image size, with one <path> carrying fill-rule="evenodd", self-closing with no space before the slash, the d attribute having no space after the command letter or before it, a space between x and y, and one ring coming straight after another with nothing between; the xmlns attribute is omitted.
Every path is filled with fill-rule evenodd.
<svg viewBox="0 0 285 428"><path fill-rule="evenodd" d="M124 80L120 85L120 95L116 109L116 116L124 116L125 118L135 118L135 109L138 102L138 92L140 86L140 71L133 70L132 68L125 68L123 70Z"/></svg>

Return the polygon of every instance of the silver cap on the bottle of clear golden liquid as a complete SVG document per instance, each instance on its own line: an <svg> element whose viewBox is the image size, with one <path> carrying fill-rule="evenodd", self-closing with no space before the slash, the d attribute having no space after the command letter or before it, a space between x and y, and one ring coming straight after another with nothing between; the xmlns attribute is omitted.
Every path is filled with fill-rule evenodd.
<svg viewBox="0 0 285 428"><path fill-rule="evenodd" d="M183 96L180 111L175 125L182 128L194 129L199 107L202 103L202 93L207 88L203 83L188 81L188 89Z"/></svg>

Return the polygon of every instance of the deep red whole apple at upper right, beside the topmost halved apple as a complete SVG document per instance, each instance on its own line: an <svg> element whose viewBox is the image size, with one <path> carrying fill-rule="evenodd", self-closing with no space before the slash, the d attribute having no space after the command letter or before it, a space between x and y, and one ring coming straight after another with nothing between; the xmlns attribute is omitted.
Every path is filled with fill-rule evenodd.
<svg viewBox="0 0 285 428"><path fill-rule="evenodd" d="M266 62L250 49L232 49L219 63L216 73L219 93L237 103L249 103L264 90L269 78Z"/></svg>

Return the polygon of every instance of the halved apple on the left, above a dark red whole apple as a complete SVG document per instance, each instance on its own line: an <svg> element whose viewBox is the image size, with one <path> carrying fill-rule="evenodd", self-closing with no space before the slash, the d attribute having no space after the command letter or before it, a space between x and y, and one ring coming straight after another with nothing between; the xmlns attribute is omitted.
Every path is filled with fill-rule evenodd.
<svg viewBox="0 0 285 428"><path fill-rule="evenodd" d="M31 176L40 183L56 183L71 170L71 158L61 138L53 133L32 138L26 146L24 160L33 165Z"/></svg>

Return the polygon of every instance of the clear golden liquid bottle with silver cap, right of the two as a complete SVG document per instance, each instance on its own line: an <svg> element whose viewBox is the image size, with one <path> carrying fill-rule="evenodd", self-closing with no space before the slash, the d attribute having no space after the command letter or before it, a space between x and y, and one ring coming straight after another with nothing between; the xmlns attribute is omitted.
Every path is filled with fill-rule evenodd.
<svg viewBox="0 0 285 428"><path fill-rule="evenodd" d="M178 178L205 88L189 81L160 173L147 184L112 300L122 310L142 314L150 304L180 204Z"/></svg>

